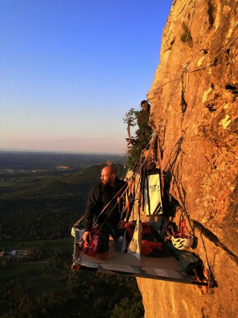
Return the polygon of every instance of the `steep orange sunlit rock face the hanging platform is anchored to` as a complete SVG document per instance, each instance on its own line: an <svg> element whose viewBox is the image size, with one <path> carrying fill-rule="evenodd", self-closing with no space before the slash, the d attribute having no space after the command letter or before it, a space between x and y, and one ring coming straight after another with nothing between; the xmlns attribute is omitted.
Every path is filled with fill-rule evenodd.
<svg viewBox="0 0 238 318"><path fill-rule="evenodd" d="M149 124L166 124L167 114L164 148L217 287L203 296L196 286L137 279L146 318L238 316L237 17L237 0L174 0L164 28Z"/></svg>

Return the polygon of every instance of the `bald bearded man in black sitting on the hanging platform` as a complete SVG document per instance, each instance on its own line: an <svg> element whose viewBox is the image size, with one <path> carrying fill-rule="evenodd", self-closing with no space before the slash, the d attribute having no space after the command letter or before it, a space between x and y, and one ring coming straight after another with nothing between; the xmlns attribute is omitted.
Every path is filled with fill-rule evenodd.
<svg viewBox="0 0 238 318"><path fill-rule="evenodd" d="M94 218L100 214L102 209L121 189L117 196L120 197L126 189L126 186L127 183L116 176L116 168L114 166L106 166L102 169L101 182L92 188L86 205L83 234L84 241L89 242L89 240L92 239L91 229ZM106 259L108 257L109 234L113 237L114 241L116 241L120 236L124 235L124 227L129 220L130 213L126 218L126 212L122 212L125 204L125 195L124 198L122 197L120 200L120 204L116 204L117 197L110 202L97 220L98 228L101 227L100 232L102 232L101 248L96 256L100 259ZM131 210L132 203L130 204L130 212Z"/></svg>

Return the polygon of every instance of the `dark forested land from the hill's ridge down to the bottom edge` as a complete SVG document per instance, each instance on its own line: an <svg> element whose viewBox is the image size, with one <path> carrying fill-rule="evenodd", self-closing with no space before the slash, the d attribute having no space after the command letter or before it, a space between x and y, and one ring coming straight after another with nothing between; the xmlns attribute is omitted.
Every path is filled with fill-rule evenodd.
<svg viewBox="0 0 238 318"><path fill-rule="evenodd" d="M135 278L71 271L71 228L105 166L0 187L0 252L29 251L0 258L0 317L144 316Z"/></svg>

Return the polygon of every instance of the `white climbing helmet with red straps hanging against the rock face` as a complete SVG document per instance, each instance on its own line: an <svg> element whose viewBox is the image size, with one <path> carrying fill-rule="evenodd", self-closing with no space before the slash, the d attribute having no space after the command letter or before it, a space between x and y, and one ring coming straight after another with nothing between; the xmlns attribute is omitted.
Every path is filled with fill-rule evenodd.
<svg viewBox="0 0 238 318"><path fill-rule="evenodd" d="M185 235L183 233L183 229L186 228L188 231L188 228L186 226L185 220L180 221L180 229L179 231L173 233L171 237L172 244L174 247L181 251L187 250L189 247L193 245L194 237L190 234L188 231L188 235Z"/></svg>

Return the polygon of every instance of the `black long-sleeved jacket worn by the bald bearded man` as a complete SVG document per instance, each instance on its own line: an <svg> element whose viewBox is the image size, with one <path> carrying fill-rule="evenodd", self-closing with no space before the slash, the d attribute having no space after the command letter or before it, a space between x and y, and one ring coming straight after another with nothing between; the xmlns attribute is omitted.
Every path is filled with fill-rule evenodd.
<svg viewBox="0 0 238 318"><path fill-rule="evenodd" d="M127 187L127 183L116 177L116 188L112 188L109 185L103 186L101 182L92 188L89 194L88 202L86 205L85 217L83 221L85 232L91 231L94 217L95 216L97 217L100 214L100 212L105 207L105 205L107 205L110 202L110 200L114 197L114 195L122 188L122 190L120 191L120 194L117 196L117 197L120 197L121 194L126 189L126 187ZM101 216L98 218L99 224L102 224L102 222L106 220L106 221L110 221L111 225L117 228L119 221L124 220L126 218L126 212L122 213L124 204L125 204L125 194L120 200L120 204L116 204L116 203L117 203L117 198L113 199L112 202L105 209L105 211L102 212ZM132 210L132 205L133 205L133 202L131 200L129 216ZM114 206L115 208L113 209ZM129 216L126 221L128 221Z"/></svg>

